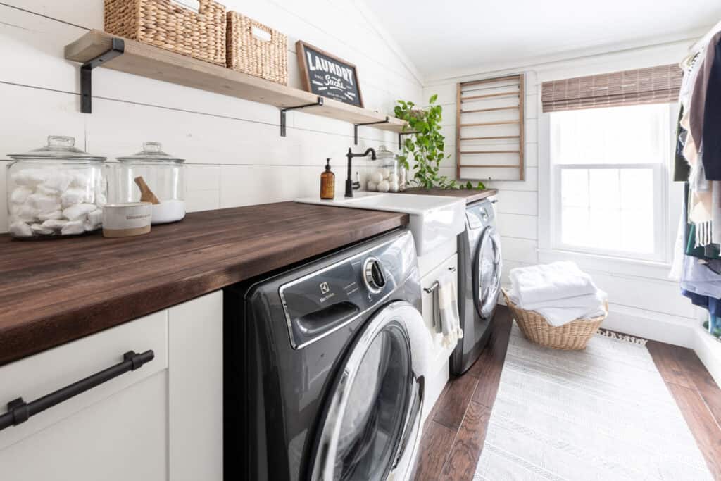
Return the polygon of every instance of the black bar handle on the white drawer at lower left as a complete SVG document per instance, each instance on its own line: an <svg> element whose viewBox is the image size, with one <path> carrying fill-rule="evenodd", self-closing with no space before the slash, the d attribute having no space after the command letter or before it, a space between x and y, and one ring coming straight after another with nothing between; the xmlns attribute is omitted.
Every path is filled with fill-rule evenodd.
<svg viewBox="0 0 721 481"><path fill-rule="evenodd" d="M9 428L10 426L25 423L30 416L36 415L38 412L43 412L54 405L58 405L63 401L75 397L78 394L89 391L99 384L110 381L110 379L125 374L126 372L135 371L140 369L143 364L149 363L155 358L155 353L152 350L146 350L144 353L138 354L134 350L129 350L123 354L123 362L110 366L107 369L103 369L92 376L88 376L85 379L76 381L66 387L58 389L50 394L31 402L25 402L22 397L18 397L16 400L12 400L7 403L7 412L0 415L0 431Z"/></svg>

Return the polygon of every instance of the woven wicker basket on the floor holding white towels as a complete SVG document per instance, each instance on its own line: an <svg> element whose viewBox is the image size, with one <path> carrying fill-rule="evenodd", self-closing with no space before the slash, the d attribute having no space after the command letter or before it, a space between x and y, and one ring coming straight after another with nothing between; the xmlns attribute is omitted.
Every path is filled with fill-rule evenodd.
<svg viewBox="0 0 721 481"><path fill-rule="evenodd" d="M518 327L531 343L536 343L547 348L562 350L580 350L585 349L586 344L601 326L606 314L593 319L576 319L565 325L554 327L550 325L541 314L535 311L526 311L513 304L508 297L508 293L503 291L505 303L508 305L513 318L518 322ZM609 311L608 303L606 303L606 312Z"/></svg>

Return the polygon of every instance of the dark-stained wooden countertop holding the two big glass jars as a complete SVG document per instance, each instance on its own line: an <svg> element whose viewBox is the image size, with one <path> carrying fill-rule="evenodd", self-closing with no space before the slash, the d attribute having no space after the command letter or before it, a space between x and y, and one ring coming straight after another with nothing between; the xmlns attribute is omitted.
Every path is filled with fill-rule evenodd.
<svg viewBox="0 0 721 481"><path fill-rule="evenodd" d="M0 236L0 365L408 224L293 202L190 213L150 234Z"/></svg>

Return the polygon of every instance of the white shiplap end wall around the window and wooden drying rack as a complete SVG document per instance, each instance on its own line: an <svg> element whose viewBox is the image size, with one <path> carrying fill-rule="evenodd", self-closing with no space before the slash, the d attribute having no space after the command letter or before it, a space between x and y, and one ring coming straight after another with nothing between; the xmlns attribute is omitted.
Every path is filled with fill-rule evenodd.
<svg viewBox="0 0 721 481"><path fill-rule="evenodd" d="M499 189L497 208L498 228L503 248L503 282L509 285L508 272L512 268L538 262L570 259L593 275L600 288L609 293L610 315L606 327L667 343L696 348L699 334L703 335L697 319L698 312L681 296L678 283L668 280L669 265L642 262L624 262L598 256L576 256L554 252L544 241L549 226L548 158L544 154L541 122L541 83L553 79L600 74L603 72L637 69L646 66L678 63L688 51L695 37L644 48L619 48L611 53L580 55L569 60L535 63L534 65L508 66L503 70L466 69L464 74L444 75L443 72L425 81L423 97L438 93L443 105L444 130L448 144L454 144L456 83L492 78L504 74L526 74L526 180L523 182L489 181L489 187ZM540 148L539 148L540 147ZM455 146L448 145L448 151ZM547 150L547 149L546 149ZM545 157L544 157L545 155ZM443 164L446 175L455 175L455 159ZM678 187L678 185L676 186ZM681 195L673 185L670 188L670 208L680 206ZM671 217L673 217L673 212ZM669 243L676 236L678 216L671 219ZM721 367L721 358L718 366ZM711 370L711 369L709 369ZM721 375L721 369L716 369Z"/></svg>

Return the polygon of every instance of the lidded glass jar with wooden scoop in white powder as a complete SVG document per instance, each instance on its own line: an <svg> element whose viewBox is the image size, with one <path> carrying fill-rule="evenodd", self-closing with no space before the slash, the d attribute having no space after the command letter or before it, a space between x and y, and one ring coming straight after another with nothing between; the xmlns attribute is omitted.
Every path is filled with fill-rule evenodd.
<svg viewBox="0 0 721 481"><path fill-rule="evenodd" d="M153 224L185 217L185 162L166 154L159 142L145 142L137 154L118 157L117 201L153 203Z"/></svg>

